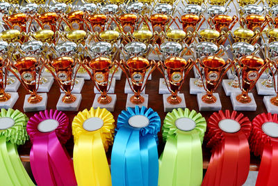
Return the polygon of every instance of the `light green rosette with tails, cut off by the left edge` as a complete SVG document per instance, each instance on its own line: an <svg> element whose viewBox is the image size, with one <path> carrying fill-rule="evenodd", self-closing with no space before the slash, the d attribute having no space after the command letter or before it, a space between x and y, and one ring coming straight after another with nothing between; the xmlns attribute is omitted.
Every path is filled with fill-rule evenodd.
<svg viewBox="0 0 278 186"><path fill-rule="evenodd" d="M1 185L34 185L17 153L17 146L28 140L28 117L19 110L0 112L0 175Z"/></svg>

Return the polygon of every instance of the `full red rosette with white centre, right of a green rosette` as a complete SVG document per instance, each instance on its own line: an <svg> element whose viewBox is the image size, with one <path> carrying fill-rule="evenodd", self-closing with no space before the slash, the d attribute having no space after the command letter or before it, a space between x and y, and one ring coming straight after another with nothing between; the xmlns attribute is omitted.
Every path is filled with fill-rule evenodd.
<svg viewBox="0 0 278 186"><path fill-rule="evenodd" d="M207 127L212 155L202 185L243 185L250 166L250 120L236 111L218 111L208 118Z"/></svg>

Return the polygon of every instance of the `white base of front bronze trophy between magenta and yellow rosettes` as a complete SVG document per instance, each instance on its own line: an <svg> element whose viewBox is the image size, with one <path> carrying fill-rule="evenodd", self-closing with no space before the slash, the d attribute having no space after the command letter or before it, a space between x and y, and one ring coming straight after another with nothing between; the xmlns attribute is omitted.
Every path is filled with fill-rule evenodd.
<svg viewBox="0 0 278 186"><path fill-rule="evenodd" d="M59 111L78 111L82 100L82 95L80 93L73 93L73 95L76 96L76 100L70 104L62 101L64 95L65 93L61 93L60 98L56 104L56 109Z"/></svg>

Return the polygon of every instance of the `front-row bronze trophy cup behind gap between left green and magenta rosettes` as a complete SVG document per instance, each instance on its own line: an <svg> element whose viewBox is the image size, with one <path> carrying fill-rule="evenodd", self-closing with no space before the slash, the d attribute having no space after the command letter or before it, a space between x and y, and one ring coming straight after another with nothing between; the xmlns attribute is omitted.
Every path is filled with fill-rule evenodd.
<svg viewBox="0 0 278 186"><path fill-rule="evenodd" d="M35 56L25 56L16 61L12 60L8 66L8 70L12 72L24 88L31 93L31 95L25 96L23 105L24 111L40 111L47 109L47 93L37 93L40 86L40 75L43 66L44 59ZM20 77L15 70L19 72Z"/></svg>

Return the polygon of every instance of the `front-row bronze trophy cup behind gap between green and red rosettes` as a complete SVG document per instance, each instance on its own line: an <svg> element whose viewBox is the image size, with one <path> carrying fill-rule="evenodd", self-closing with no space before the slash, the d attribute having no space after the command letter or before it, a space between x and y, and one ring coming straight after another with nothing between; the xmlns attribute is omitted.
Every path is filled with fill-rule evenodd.
<svg viewBox="0 0 278 186"><path fill-rule="evenodd" d="M204 70L202 75L200 68L195 64L199 74L202 75L203 87L206 90L206 93L197 93L199 111L218 111L222 109L222 105L218 93L213 92L218 88L234 62L230 59L224 61L218 56L204 56L197 59L197 63Z"/></svg>

